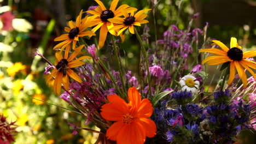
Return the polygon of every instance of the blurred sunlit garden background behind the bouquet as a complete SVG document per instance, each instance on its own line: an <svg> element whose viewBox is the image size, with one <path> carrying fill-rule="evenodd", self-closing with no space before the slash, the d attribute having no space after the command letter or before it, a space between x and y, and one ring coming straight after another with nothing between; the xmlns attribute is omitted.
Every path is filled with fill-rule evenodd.
<svg viewBox="0 0 256 144"><path fill-rule="evenodd" d="M110 5L107 0L103 3ZM171 25L181 30L188 26L202 29L208 25L208 41L218 39L229 45L230 37L236 37L244 50L256 50L255 0L120 0L121 4L152 9L147 18L149 23L139 27L149 41L163 39L163 33ZM68 123L98 128L93 123L86 124L82 115L55 95L53 83L46 85L46 62L35 57L35 52L39 51L54 63L53 47L58 44L54 39L65 33L64 27L69 20L75 21L80 10L86 11L92 5L97 3L92 0L0 0L0 114L9 122L16 121L18 133L14 143L89 144L96 141L97 134L86 130L72 134ZM193 23L189 23L191 19ZM201 46L201 41L196 41L195 46ZM91 45L95 41L91 39L86 43ZM99 51L101 57L111 57L105 55L106 51L112 51L108 44L106 42L105 48ZM136 35L126 34L122 46L122 55L127 57L123 63L129 63L130 70L136 73L139 61ZM208 73L218 72L211 66ZM207 88L213 91L215 85L217 81L213 80ZM242 131L238 137L246 143L256 141L255 131L254 134L250 130Z"/></svg>

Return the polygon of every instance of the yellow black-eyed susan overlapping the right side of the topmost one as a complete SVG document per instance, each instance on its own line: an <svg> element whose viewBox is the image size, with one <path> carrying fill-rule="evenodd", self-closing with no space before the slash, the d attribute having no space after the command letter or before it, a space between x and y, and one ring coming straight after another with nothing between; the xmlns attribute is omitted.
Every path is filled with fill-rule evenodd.
<svg viewBox="0 0 256 144"><path fill-rule="evenodd" d="M139 10L135 15L134 11L131 11L131 14L129 15L127 11L122 9L122 13L125 16L124 18L114 17L112 19L108 19L110 22L119 24L118 26L114 26L110 30L120 29L120 31L118 32L119 35L125 29L129 28L130 33L134 34L134 26L141 26L142 23L148 23L148 20L144 20L148 15L144 13L146 13L149 10L151 9Z"/></svg>

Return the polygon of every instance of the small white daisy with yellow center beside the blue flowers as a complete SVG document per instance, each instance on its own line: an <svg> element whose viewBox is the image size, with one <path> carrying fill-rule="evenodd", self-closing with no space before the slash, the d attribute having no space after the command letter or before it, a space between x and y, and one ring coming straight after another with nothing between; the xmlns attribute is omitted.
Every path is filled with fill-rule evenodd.
<svg viewBox="0 0 256 144"><path fill-rule="evenodd" d="M191 75L185 75L182 77L182 79L179 81L179 85L182 87L182 92L192 92L197 93L199 88L199 81L195 81L196 78Z"/></svg>

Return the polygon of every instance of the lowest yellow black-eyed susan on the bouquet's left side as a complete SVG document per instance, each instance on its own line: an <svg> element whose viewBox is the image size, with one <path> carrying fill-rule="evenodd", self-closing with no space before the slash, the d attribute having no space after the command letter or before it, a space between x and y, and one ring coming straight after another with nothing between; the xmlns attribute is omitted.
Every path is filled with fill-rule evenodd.
<svg viewBox="0 0 256 144"><path fill-rule="evenodd" d="M75 81L82 82L80 77L72 70L72 68L85 64L81 61L82 59L91 58L89 56L82 56L73 60L75 57L77 57L83 47L84 45L77 47L69 57L69 47L65 50L64 57L60 51L55 53L57 59L55 69L51 71L50 76L46 77L46 81L50 81L54 78L53 88L55 94L60 95L61 85L63 85L66 91L69 90L69 77Z"/></svg>

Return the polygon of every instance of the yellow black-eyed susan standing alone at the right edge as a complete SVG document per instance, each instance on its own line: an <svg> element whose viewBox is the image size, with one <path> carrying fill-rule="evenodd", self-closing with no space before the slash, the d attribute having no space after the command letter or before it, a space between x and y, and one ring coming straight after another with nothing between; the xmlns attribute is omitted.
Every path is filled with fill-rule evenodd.
<svg viewBox="0 0 256 144"><path fill-rule="evenodd" d="M247 76L243 68L247 69L249 73L253 75L254 79L256 79L255 73L251 69L256 69L256 63L246 59L255 57L256 51L243 52L242 47L238 45L236 38L231 38L230 49L218 40L212 40L212 42L213 44L218 45L221 49L211 48L199 50L199 52L210 52L217 55L207 57L202 61L202 64L206 63L208 65L217 65L229 62L230 74L228 85L230 85L234 80L237 71L240 79L242 79L243 87L247 87Z"/></svg>

